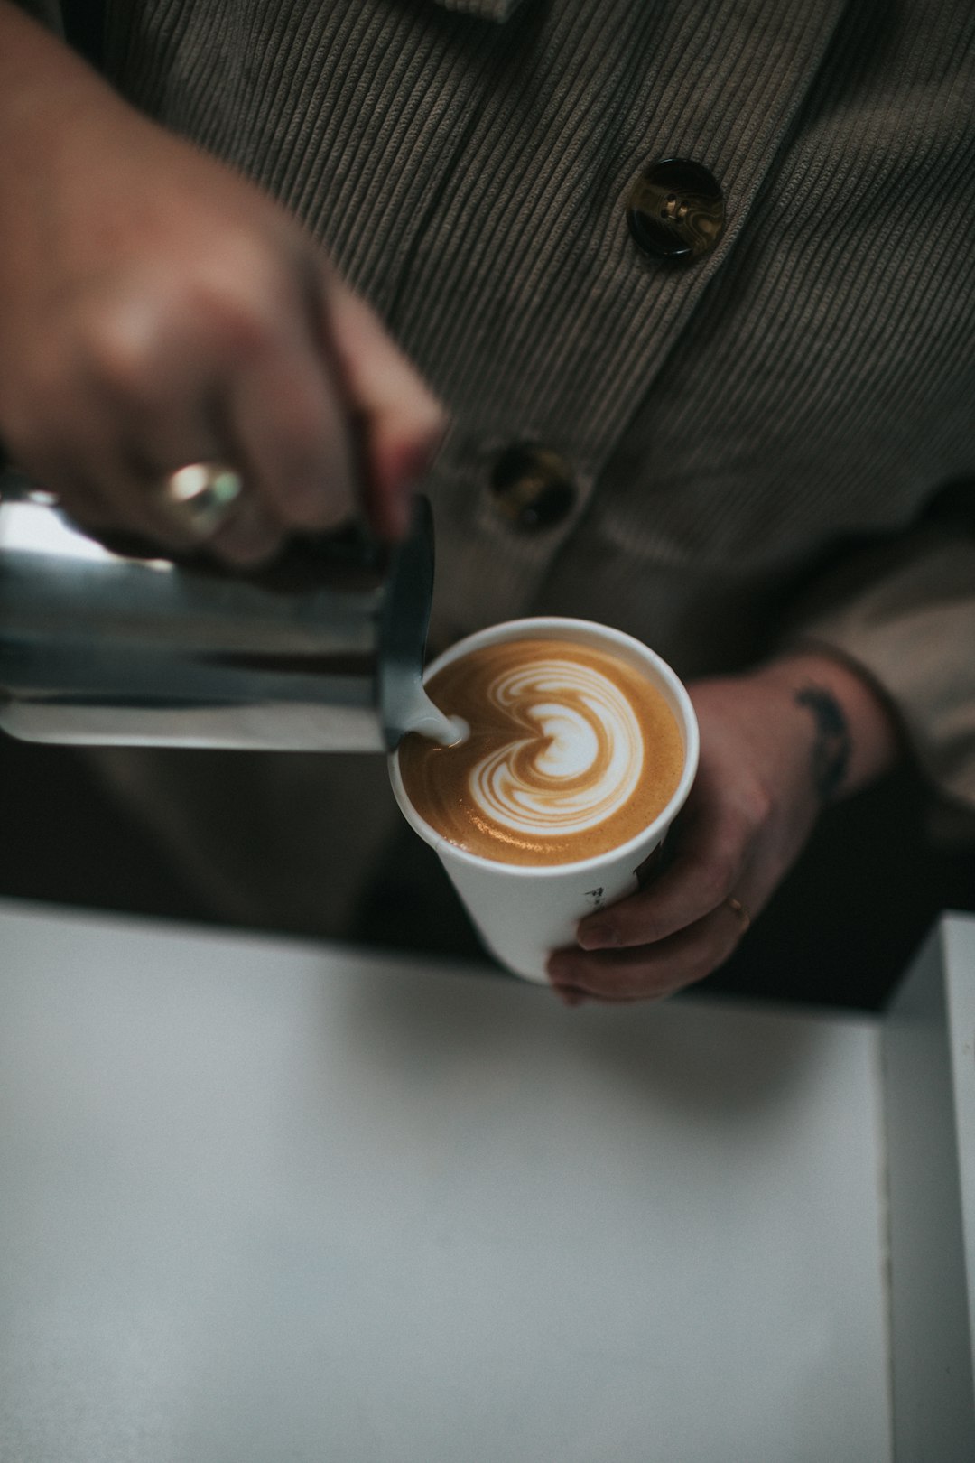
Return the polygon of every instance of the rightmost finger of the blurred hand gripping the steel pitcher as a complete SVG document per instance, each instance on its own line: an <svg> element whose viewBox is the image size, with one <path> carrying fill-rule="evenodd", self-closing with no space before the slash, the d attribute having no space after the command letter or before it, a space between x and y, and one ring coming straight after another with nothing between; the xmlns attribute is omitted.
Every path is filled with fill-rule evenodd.
<svg viewBox="0 0 975 1463"><path fill-rule="evenodd" d="M447 417L377 316L335 275L325 282L327 331L351 407L361 420L370 524L401 538L412 490L430 470Z"/></svg>

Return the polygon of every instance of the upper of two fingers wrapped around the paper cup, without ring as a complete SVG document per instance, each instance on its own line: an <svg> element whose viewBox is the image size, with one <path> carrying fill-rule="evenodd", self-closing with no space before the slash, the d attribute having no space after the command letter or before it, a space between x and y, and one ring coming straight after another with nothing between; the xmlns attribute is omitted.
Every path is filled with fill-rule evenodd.
<svg viewBox="0 0 975 1463"><path fill-rule="evenodd" d="M672 863L646 888L582 920L583 949L627 948L667 939L694 925L738 887L753 828L746 815L718 799L707 816L681 831Z"/></svg>

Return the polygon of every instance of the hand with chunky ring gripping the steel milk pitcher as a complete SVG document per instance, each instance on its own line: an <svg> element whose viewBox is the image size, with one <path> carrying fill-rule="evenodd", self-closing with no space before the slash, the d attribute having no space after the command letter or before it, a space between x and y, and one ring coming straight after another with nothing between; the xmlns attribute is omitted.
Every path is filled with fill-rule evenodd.
<svg viewBox="0 0 975 1463"><path fill-rule="evenodd" d="M444 418L373 312L284 209L3 0L0 54L0 440L16 464L86 530L172 550L191 538L159 487L197 461L244 483L208 546L229 560L358 506L399 537Z"/></svg>

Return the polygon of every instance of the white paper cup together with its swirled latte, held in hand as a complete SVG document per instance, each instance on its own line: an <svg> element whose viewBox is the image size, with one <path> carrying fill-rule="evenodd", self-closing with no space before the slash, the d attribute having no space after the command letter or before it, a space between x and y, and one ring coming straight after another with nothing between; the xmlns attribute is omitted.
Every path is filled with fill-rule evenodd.
<svg viewBox="0 0 975 1463"><path fill-rule="evenodd" d="M436 850L487 947L545 982L583 916L637 887L697 770L697 723L674 672L589 620L509 620L424 676L469 734L403 737L396 800Z"/></svg>

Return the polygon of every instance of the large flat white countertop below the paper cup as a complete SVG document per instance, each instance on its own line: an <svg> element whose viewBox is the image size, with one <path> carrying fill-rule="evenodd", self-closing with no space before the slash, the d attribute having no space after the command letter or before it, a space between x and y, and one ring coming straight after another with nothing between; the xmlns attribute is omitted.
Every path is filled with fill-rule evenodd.
<svg viewBox="0 0 975 1463"><path fill-rule="evenodd" d="M889 1463L877 1064L0 906L0 1460Z"/></svg>

